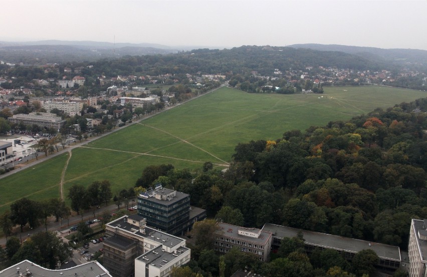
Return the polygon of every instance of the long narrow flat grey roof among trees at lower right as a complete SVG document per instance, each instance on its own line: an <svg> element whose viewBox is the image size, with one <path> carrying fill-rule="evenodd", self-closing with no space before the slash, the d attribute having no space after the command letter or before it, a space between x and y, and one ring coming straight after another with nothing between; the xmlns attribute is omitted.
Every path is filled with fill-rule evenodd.
<svg viewBox="0 0 427 277"><path fill-rule="evenodd" d="M421 221L422 222L422 221ZM421 223L422 224L422 223ZM313 231L306 231L281 225L266 223L262 229L263 231L272 232L273 236L294 237L298 231L301 231L306 244L331 248L336 250L344 250L350 253L357 253L363 249L372 249L376 252L378 257L390 260L400 261L400 249L397 246L376 243L366 240L355 238L343 237L338 235L331 235L325 233L318 233ZM369 243L371 246L369 246Z"/></svg>

